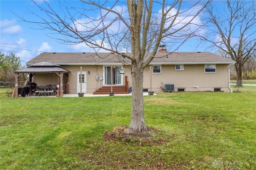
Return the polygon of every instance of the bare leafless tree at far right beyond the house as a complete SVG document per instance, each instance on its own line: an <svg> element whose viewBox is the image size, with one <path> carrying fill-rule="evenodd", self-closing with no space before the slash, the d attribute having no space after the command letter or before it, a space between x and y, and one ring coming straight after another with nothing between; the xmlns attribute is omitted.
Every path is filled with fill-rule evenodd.
<svg viewBox="0 0 256 170"><path fill-rule="evenodd" d="M242 85L246 61L256 53L256 4L252 0L213 1L206 7L207 32L199 37L236 61L236 80ZM240 84L239 84L240 83Z"/></svg>

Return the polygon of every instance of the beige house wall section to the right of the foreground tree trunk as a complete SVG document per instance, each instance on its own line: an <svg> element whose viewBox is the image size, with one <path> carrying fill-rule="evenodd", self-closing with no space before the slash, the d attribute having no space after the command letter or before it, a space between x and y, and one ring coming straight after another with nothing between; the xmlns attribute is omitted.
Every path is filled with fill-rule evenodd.
<svg viewBox="0 0 256 170"><path fill-rule="evenodd" d="M216 73L205 73L204 64L184 65L184 70L175 70L175 65L161 65L160 74L152 74L152 91L164 91L164 84L173 83L174 89L185 88L186 91L214 91L221 87L230 92L228 83L228 64L217 64ZM150 88L150 66L144 69L144 88ZM198 88L197 88L198 87Z"/></svg>

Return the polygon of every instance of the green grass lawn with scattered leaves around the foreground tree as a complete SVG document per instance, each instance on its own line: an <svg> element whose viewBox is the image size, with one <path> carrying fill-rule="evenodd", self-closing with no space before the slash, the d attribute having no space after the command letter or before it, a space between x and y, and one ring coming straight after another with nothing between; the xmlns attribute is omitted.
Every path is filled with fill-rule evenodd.
<svg viewBox="0 0 256 170"><path fill-rule="evenodd" d="M1 169L254 169L256 93L160 93L145 119L164 140L106 141L130 123L130 96L1 95Z"/></svg>

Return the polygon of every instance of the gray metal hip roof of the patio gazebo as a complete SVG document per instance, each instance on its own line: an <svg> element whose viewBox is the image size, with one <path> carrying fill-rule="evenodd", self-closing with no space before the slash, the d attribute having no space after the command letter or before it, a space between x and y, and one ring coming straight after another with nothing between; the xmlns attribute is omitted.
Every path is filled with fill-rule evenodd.
<svg viewBox="0 0 256 170"><path fill-rule="evenodd" d="M15 73L69 73L70 71L60 68L60 65L49 61L40 61L28 65L24 69L15 70Z"/></svg>

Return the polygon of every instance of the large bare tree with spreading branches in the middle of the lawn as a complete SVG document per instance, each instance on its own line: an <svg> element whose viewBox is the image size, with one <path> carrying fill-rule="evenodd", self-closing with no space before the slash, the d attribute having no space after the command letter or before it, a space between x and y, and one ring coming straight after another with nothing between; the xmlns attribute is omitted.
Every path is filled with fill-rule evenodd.
<svg viewBox="0 0 256 170"><path fill-rule="evenodd" d="M72 1L60 1L58 9L51 2L34 3L47 17L37 16L34 22L53 33L61 43L85 43L97 52L105 49L130 59L132 75L131 123L126 132L148 132L144 120L143 69L152 61L161 42L172 42L175 48L198 31L198 14L208 1L85 1L79 6ZM191 4L193 3L193 4ZM158 8L159 10L153 10ZM182 6L185 10L182 10ZM92 15L92 13L94 13ZM96 17L95 17L96 16ZM54 37L54 36L51 36ZM127 45L128 44L128 45ZM130 51L123 53L123 51Z"/></svg>

